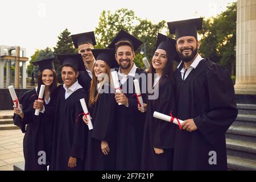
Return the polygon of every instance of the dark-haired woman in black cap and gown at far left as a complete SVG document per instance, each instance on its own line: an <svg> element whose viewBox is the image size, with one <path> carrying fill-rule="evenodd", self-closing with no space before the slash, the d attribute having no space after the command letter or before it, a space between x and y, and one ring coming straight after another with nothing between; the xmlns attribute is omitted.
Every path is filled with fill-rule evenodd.
<svg viewBox="0 0 256 182"><path fill-rule="evenodd" d="M25 133L23 139L25 171L47 171L51 159L52 125L55 115L53 93L57 86L53 59L33 62L34 65L39 65L38 86L24 93L20 98L22 110L14 108L14 124ZM46 85L44 97L42 101L38 101L42 84ZM39 115L35 115L35 109L40 109Z"/></svg>

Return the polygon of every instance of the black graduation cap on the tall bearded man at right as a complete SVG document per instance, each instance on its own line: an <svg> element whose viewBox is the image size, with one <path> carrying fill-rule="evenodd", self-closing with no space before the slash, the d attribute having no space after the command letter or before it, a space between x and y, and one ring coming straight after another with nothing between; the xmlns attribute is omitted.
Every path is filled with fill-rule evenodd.
<svg viewBox="0 0 256 182"><path fill-rule="evenodd" d="M182 36L195 36L197 39L197 30L202 29L203 18L167 22L167 24L170 34L176 34L176 40Z"/></svg>

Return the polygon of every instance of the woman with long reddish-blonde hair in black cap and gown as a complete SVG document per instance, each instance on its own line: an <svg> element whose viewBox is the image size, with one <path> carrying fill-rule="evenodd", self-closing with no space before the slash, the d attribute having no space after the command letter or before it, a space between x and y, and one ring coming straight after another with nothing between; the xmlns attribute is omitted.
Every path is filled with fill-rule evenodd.
<svg viewBox="0 0 256 182"><path fill-rule="evenodd" d="M93 129L89 130L86 170L115 169L116 107L110 68L117 65L114 49L93 49L96 62L90 87L89 108ZM86 124L88 119L83 117Z"/></svg>

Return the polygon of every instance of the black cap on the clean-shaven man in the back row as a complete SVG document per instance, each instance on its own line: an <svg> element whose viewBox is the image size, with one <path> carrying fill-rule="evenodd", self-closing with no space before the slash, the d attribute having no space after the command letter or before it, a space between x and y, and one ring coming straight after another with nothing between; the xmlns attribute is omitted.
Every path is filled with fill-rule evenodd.
<svg viewBox="0 0 256 182"><path fill-rule="evenodd" d="M82 43L89 42L93 46L96 45L94 32L85 32L82 34L71 35L75 48L78 48Z"/></svg>

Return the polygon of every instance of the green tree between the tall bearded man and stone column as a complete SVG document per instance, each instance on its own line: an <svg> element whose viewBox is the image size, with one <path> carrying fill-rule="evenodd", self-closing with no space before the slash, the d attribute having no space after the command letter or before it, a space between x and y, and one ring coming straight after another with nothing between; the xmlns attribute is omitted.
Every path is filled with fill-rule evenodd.
<svg viewBox="0 0 256 182"><path fill-rule="evenodd" d="M202 55L226 67L232 76L236 67L236 18L237 3L234 2L216 18L205 20L200 31Z"/></svg>

